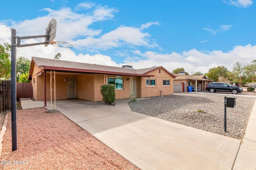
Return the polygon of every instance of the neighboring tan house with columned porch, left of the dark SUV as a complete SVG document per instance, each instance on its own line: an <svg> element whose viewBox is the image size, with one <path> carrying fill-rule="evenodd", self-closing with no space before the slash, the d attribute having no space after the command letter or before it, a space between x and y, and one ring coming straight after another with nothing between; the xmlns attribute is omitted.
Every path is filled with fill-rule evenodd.
<svg viewBox="0 0 256 170"><path fill-rule="evenodd" d="M173 74L174 78L174 92L188 92L188 86L193 86L194 91L205 90L206 85L213 80L209 80L206 76L188 76L183 74Z"/></svg>

